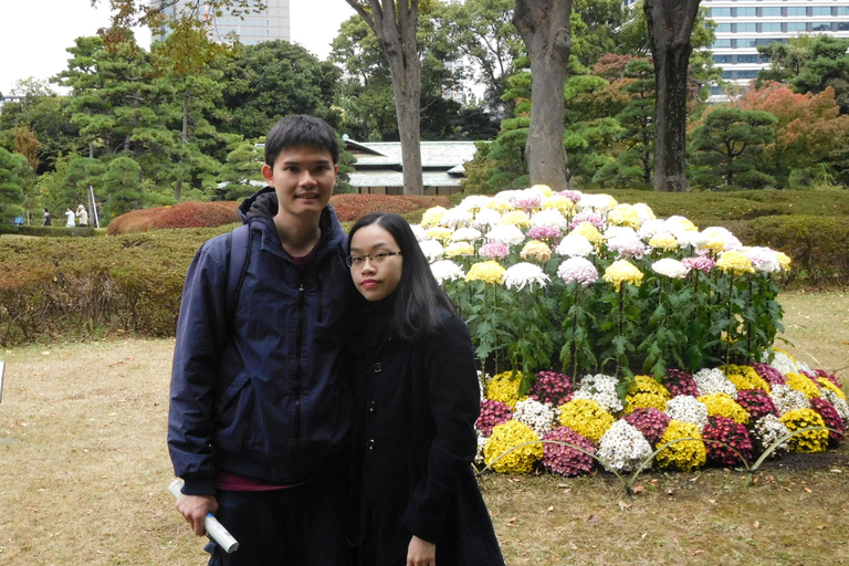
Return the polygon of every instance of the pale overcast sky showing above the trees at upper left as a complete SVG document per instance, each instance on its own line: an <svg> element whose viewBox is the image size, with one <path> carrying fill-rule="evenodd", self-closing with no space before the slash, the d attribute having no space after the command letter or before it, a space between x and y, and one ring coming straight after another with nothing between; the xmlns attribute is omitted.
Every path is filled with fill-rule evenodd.
<svg viewBox="0 0 849 566"><path fill-rule="evenodd" d="M0 0L0 92L10 94L20 78L50 78L67 66L65 49L94 35L109 18L108 0ZM290 0L292 41L324 60L339 24L354 15L345 0ZM139 43L150 46L146 30ZM55 86L54 86L55 88Z"/></svg>

